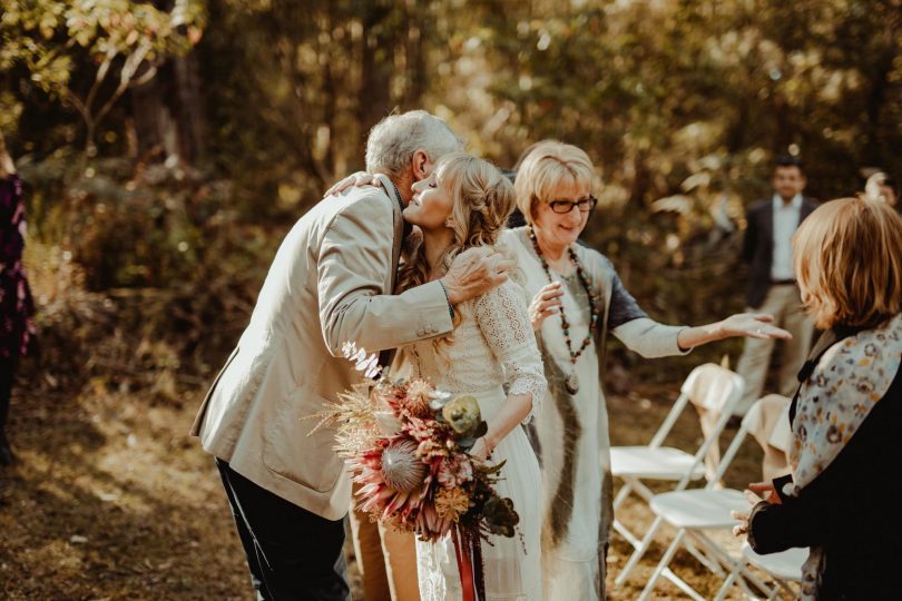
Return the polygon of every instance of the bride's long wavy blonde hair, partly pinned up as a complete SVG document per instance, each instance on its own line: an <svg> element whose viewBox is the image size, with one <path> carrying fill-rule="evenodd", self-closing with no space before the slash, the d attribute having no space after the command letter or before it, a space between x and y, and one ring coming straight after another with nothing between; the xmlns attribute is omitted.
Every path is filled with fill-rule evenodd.
<svg viewBox="0 0 902 601"><path fill-rule="evenodd" d="M449 217L453 239L440 262L444 273L463 250L493 246L517 200L513 185L494 165L467 152L452 152L439 159L435 180L448 189L453 203ZM398 292L425 284L429 277L425 252L420 244L405 253Z"/></svg>

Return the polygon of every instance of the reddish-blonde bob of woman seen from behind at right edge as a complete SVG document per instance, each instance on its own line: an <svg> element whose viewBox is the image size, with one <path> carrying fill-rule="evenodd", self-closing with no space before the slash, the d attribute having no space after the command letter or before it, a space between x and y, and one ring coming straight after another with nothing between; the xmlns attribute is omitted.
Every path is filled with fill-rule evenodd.
<svg viewBox="0 0 902 601"><path fill-rule="evenodd" d="M902 218L865 198L825 203L796 230L793 266L817 327L878 325L902 308Z"/></svg>

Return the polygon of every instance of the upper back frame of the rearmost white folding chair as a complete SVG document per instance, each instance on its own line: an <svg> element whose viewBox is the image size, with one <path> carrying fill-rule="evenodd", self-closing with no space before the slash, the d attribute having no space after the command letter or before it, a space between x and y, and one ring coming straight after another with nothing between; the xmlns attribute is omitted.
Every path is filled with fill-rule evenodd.
<svg viewBox="0 0 902 601"><path fill-rule="evenodd" d="M708 462L708 480L715 483L719 480L719 477L713 473L715 465L720 467L723 463L723 461L718 461L719 449L716 443L720 432L726 427L726 423L733 414L733 407L742 398L743 386L743 378L738 374L714 363L699 365L686 377L686 381L679 388L679 398L674 403L667 417L665 417L649 443L651 447L660 446L661 443L664 443L664 440L670 433L679 414L683 413L683 410L689 402L698 410L704 440L698 451L695 453L695 461L693 462L692 469L686 473L679 484L677 484L678 487L688 483L696 466L705 461L705 457L709 454L712 456ZM724 469L726 467L724 466Z"/></svg>

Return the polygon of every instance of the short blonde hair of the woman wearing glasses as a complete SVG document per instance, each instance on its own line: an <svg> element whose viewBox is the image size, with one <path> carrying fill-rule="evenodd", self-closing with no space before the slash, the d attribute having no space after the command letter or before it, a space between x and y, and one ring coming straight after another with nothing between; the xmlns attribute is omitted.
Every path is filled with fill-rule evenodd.
<svg viewBox="0 0 902 601"><path fill-rule="evenodd" d="M551 195L558 186L566 183L591 189L594 177L592 161L582 149L557 140L542 140L530 147L517 169L513 184L517 206L531 225L539 203L557 200Z"/></svg>

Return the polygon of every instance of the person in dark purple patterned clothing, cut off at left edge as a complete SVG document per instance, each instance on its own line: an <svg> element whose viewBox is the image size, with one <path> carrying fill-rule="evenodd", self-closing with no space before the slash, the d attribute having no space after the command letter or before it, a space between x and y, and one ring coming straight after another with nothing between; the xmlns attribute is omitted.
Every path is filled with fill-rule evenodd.
<svg viewBox="0 0 902 601"><path fill-rule="evenodd" d="M24 238L22 184L0 135L0 465L14 460L6 435L7 415L16 366L35 335L35 304L22 267Z"/></svg>

